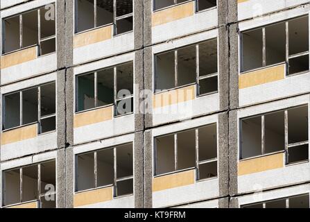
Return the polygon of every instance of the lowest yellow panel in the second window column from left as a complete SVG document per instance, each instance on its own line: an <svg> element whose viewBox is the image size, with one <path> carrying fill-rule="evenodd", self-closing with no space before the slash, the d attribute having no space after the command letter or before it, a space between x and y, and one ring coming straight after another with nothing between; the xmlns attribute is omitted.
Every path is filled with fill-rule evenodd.
<svg viewBox="0 0 310 222"><path fill-rule="evenodd" d="M92 191L74 194L74 207L101 203L113 199L113 187L105 187Z"/></svg>

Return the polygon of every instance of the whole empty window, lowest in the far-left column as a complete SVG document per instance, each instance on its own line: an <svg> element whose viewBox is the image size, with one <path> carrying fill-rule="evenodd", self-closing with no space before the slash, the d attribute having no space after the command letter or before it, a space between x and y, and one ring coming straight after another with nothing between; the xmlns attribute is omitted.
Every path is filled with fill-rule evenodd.
<svg viewBox="0 0 310 222"><path fill-rule="evenodd" d="M3 205L40 200L39 207L55 208L55 161L3 171Z"/></svg>

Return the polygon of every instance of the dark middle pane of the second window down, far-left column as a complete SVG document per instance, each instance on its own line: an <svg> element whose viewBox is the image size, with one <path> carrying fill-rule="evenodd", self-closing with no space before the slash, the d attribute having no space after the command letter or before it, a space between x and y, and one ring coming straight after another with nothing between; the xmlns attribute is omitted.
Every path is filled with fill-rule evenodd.
<svg viewBox="0 0 310 222"><path fill-rule="evenodd" d="M22 92L23 124L37 122L37 87Z"/></svg>

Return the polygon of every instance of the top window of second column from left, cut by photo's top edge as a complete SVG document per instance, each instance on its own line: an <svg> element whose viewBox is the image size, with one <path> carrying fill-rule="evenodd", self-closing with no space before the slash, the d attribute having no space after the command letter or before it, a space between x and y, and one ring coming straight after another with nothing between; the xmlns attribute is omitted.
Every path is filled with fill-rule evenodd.
<svg viewBox="0 0 310 222"><path fill-rule="evenodd" d="M114 24L114 34L133 29L132 0L76 0L76 33Z"/></svg>

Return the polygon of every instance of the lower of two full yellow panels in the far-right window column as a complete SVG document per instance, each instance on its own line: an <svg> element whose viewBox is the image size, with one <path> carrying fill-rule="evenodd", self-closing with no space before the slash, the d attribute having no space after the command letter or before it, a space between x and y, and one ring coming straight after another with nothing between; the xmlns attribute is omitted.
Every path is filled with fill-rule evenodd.
<svg viewBox="0 0 310 222"><path fill-rule="evenodd" d="M284 153L244 160L238 164L238 176L284 167Z"/></svg>

